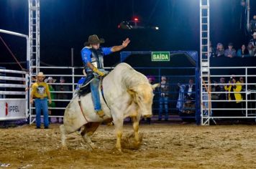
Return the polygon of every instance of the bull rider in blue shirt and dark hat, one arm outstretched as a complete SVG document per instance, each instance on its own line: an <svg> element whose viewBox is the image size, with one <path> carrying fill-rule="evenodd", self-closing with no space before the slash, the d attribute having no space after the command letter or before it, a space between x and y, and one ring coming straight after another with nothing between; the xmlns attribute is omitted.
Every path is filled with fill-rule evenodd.
<svg viewBox="0 0 256 169"><path fill-rule="evenodd" d="M91 80L91 96L93 100L94 110L99 117L104 117L104 112L101 110L101 102L99 97L99 83L100 78L106 74L104 68L103 57L111 52L118 52L129 44L130 40L127 38L122 45L114 47L100 47L104 43L104 39L99 39L96 34L88 37L88 42L85 42L81 50L81 57L86 71L86 82Z"/></svg>

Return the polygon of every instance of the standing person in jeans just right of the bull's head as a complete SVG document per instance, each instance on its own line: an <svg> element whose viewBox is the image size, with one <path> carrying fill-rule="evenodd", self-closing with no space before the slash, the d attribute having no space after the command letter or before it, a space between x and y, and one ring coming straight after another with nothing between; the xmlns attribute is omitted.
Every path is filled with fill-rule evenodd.
<svg viewBox="0 0 256 169"><path fill-rule="evenodd" d="M165 110L165 121L168 121L168 95L169 85L165 76L161 77L160 82L160 97L159 97L159 114L158 120L162 120L163 109Z"/></svg>

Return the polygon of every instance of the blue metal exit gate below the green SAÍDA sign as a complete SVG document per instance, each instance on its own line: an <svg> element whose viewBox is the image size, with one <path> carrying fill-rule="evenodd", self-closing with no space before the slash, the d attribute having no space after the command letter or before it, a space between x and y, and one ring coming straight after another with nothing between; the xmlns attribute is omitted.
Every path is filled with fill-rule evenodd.
<svg viewBox="0 0 256 169"><path fill-rule="evenodd" d="M196 119L196 123L199 125L201 119L197 52L170 52L170 58L166 62L155 62L152 57L152 52L121 52L121 62L127 62L138 72L142 72L149 79L153 79L153 83L159 83L163 76L168 79L170 90L168 91L168 100L166 100L168 104L165 105L168 105L169 117L170 115L179 115L176 117L181 117L183 120ZM188 87L189 79L193 80L195 86L193 100L190 100L194 107L186 107L188 100L182 97L187 95L184 87ZM163 103L160 90L155 90L154 94L153 114L157 117ZM194 113L188 115L186 112Z"/></svg>

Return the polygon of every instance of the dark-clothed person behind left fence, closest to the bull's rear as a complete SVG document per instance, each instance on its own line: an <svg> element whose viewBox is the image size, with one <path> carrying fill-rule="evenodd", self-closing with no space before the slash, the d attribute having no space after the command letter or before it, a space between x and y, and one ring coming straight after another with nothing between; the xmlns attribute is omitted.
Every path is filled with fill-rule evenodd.
<svg viewBox="0 0 256 169"><path fill-rule="evenodd" d="M56 91L58 91L58 92L61 91L57 95L58 100L68 100L68 93L65 93L65 92L69 91L69 87L68 87L68 85L65 85L64 77L60 77L60 84L57 85ZM67 105L68 105L68 103L66 101L58 101L58 107L60 107L60 108L65 108ZM61 113L61 112L64 112L64 110L60 110L58 112L60 112L60 113L58 113L58 115L63 115L63 113ZM62 122L62 118L59 117L58 121Z"/></svg>

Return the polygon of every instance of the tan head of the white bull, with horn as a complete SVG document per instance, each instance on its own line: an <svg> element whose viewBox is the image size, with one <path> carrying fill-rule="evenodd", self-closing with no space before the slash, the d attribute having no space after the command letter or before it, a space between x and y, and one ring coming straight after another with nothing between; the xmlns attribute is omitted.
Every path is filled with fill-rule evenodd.
<svg viewBox="0 0 256 169"><path fill-rule="evenodd" d="M133 87L128 90L133 102L138 105L138 112L143 117L152 116L152 102L154 97L153 90L157 86L158 84L140 84L137 87Z"/></svg>

